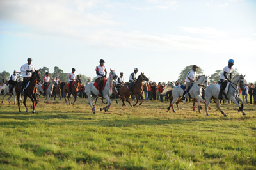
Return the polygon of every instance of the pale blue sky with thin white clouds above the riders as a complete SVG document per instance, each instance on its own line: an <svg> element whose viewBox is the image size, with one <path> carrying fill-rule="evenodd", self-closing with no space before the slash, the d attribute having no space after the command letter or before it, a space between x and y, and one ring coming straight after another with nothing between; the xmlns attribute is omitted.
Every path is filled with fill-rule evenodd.
<svg viewBox="0 0 256 170"><path fill-rule="evenodd" d="M0 72L19 72L32 58L36 69L95 77L100 59L108 70L134 68L151 81L176 81L188 65L205 75L234 68L255 82L255 0L1 0Z"/></svg>

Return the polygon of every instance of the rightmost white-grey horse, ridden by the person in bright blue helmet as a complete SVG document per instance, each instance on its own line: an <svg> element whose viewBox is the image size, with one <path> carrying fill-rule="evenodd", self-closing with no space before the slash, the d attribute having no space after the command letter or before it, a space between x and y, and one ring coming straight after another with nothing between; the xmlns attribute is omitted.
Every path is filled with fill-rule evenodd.
<svg viewBox="0 0 256 170"><path fill-rule="evenodd" d="M245 77L245 75L244 76L243 75L235 75L233 77L232 81L227 84L227 87L228 87L228 91L226 93L227 98L225 97L225 95L223 95L223 98L226 98L227 100L228 99L232 100L232 102L234 102L234 104L236 104L239 107L238 111L239 112L241 111L243 113L243 115L246 115L243 111L243 107L244 107L243 100L238 97L239 91L238 91L238 87L237 87L237 86L239 86L241 88L241 91L244 90L244 77ZM210 86L208 86L205 89L206 116L209 116L207 106L209 105L211 98L215 98L217 108L220 110L221 114L223 114L223 116L225 116L225 117L227 116L220 108L220 100L218 100L219 91L220 91L220 84L211 84ZM241 107L237 101L241 102Z"/></svg>

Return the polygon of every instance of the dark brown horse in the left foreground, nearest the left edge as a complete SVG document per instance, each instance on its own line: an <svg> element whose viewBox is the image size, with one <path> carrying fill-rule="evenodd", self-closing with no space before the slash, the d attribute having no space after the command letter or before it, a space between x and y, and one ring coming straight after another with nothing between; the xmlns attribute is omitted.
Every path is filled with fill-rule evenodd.
<svg viewBox="0 0 256 170"><path fill-rule="evenodd" d="M27 97L29 97L33 103L33 106L31 107L31 109L33 109L32 113L35 113L35 107L37 105L37 100L36 100L36 92L37 92L37 82L40 81L41 78L41 73L40 73L40 69L39 70L35 70L35 72L32 73L31 77L29 78L29 85L28 87L25 89L25 94L24 94L24 100L23 100L23 104L26 107L26 112L28 112L28 107L26 105L26 100ZM15 86L15 91L17 94L17 97L20 96L20 93L22 92L22 88L19 86L20 83L17 83ZM19 111L20 111L20 100L18 100L18 106L19 106ZM21 111L20 111L21 113Z"/></svg>

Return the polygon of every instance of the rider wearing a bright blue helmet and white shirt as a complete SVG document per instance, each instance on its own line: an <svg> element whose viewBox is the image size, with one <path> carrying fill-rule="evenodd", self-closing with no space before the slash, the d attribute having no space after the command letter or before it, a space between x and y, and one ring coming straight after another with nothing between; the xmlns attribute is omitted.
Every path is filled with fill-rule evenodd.
<svg viewBox="0 0 256 170"><path fill-rule="evenodd" d="M225 84L227 82L225 82L225 79L229 82L231 82L231 78L232 78L232 72L233 72L233 68L232 66L234 65L234 60L233 59L230 59L228 60L228 65L225 66L220 74L220 82L221 82L221 86L220 86L220 93L219 93L219 96L218 96L218 99L222 100L223 97L222 97L222 94L223 94L223 91L225 89ZM228 75L230 77L230 79L228 79Z"/></svg>

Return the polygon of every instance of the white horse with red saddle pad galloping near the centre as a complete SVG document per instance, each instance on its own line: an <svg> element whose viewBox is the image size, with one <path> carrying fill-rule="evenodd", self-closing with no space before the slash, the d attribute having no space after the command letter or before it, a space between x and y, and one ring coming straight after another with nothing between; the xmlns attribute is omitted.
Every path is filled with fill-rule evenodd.
<svg viewBox="0 0 256 170"><path fill-rule="evenodd" d="M111 100L109 99L109 96L111 96L111 94L113 92L113 81L115 79L117 79L116 72L115 72L115 70L110 69L108 81L106 82L105 88L102 90L102 95L104 98L106 98L107 105L106 105L106 107L100 108L100 111L102 111L103 109L105 109L105 112L108 111L108 109L111 105ZM85 92L88 96L89 105L92 108L93 114L95 114L95 105L93 104L93 100L95 100L95 98L98 97L99 91L95 88L95 86L93 86L93 82L91 82L85 87ZM92 95L92 97L91 97L91 95Z"/></svg>

